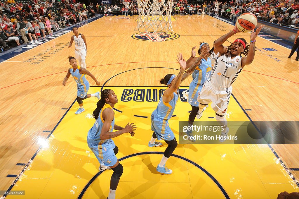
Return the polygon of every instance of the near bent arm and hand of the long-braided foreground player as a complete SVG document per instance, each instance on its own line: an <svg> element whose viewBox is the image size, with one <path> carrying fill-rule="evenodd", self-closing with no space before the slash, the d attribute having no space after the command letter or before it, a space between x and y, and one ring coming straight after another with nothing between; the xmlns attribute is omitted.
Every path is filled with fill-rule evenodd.
<svg viewBox="0 0 299 199"><path fill-rule="evenodd" d="M112 120L114 118L114 111L110 108L106 108L103 111L103 117L104 117L104 123L103 123L103 127L101 130L101 135L100 135L101 140L115 138L124 133L134 132L134 130L136 129L136 126L134 125L134 123L131 123L131 124L128 123L125 128L123 128L119 131L109 132Z"/></svg>

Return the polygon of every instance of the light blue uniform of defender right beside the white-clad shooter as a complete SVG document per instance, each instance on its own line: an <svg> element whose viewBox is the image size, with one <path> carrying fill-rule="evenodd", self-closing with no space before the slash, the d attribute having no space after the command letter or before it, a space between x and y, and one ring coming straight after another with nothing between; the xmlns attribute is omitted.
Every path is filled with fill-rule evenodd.
<svg viewBox="0 0 299 199"><path fill-rule="evenodd" d="M197 97L202 90L203 84L210 78L211 75L211 59L202 59L200 64L196 67L192 73L192 82L189 86L188 102L192 106L198 106Z"/></svg>

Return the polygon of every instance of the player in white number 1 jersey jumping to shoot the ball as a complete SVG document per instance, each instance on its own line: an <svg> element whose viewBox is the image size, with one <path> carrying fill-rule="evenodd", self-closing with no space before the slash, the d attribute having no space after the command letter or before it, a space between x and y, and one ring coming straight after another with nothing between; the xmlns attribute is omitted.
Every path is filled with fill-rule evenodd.
<svg viewBox="0 0 299 199"><path fill-rule="evenodd" d="M214 43L215 49L219 52L219 57L215 61L210 80L204 84L197 98L199 111L196 117L202 117L205 106L212 102L211 107L216 112L215 118L219 121L221 126L224 127L224 130L221 132L223 138L225 138L228 133L225 114L231 97L231 85L237 79L243 67L252 63L255 51L255 38L263 26L257 28L256 31L252 31L250 35L250 45L246 46L247 42L243 38L234 40L228 47L222 45L228 38L240 32L236 26L228 34L223 35ZM241 54L245 55L245 57L241 57ZM220 141L223 142L225 139Z"/></svg>

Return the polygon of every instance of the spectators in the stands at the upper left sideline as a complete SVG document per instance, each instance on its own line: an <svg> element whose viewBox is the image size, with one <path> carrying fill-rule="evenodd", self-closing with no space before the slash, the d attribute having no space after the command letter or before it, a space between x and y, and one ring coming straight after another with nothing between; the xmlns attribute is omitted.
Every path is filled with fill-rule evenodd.
<svg viewBox="0 0 299 199"><path fill-rule="evenodd" d="M0 52L34 43L61 28L95 16L94 4L76 0L7 0L0 4Z"/></svg>

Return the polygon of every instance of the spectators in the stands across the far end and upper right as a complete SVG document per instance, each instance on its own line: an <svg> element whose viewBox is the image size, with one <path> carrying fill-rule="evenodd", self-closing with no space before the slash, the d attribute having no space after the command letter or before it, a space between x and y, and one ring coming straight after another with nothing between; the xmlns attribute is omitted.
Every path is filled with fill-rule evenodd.
<svg viewBox="0 0 299 199"><path fill-rule="evenodd" d="M123 6L97 4L97 12L105 15L120 14L120 12L126 16L138 14L136 0L120 0L120 4ZM201 4L192 4L188 0L174 0L172 10L173 14L209 14L232 21L238 14L248 12L263 21L299 27L299 2L295 0L216 0L205 1Z"/></svg>

